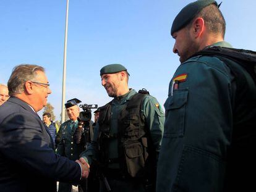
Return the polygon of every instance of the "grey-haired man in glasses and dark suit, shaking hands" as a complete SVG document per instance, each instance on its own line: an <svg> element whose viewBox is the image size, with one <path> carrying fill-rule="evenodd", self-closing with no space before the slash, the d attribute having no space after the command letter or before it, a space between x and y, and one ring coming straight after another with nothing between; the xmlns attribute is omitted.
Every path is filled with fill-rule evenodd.
<svg viewBox="0 0 256 192"><path fill-rule="evenodd" d="M0 107L0 191L56 191L56 181L74 185L87 165L54 153L53 139L36 112L51 94L43 67L18 65L8 81L11 98Z"/></svg>

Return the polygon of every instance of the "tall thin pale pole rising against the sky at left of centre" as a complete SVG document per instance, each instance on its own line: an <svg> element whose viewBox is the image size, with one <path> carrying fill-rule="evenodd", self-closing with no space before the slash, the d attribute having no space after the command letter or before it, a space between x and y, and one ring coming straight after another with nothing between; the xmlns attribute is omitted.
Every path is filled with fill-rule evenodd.
<svg viewBox="0 0 256 192"><path fill-rule="evenodd" d="M67 25L69 20L69 0L67 0L66 9L66 28L65 28L65 40L64 40L64 59L63 59L63 77L62 77L62 104L61 104L61 123L65 120L65 100L66 100L66 60L67 60Z"/></svg>

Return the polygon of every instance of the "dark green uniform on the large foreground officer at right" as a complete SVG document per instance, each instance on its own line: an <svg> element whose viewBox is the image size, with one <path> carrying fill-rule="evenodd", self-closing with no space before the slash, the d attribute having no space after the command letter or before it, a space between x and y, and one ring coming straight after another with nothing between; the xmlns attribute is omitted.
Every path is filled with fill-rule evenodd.
<svg viewBox="0 0 256 192"><path fill-rule="evenodd" d="M224 41L213 45L231 47ZM164 104L156 191L253 185L245 175L255 167L256 88L249 73L237 69L244 79L215 56L196 56L176 70Z"/></svg>

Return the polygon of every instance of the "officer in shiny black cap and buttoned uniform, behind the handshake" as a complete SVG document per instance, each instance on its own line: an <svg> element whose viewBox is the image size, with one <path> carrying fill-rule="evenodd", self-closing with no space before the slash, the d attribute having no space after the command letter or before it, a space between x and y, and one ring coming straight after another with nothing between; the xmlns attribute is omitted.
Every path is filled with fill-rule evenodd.
<svg viewBox="0 0 256 192"><path fill-rule="evenodd" d="M77 134L78 120L79 117L79 104L81 101L79 99L70 99L66 102L65 107L69 120L61 124L59 128L58 136L56 140L59 140L57 153L61 156L67 157L70 160L75 161L79 159L79 154L85 149L84 140L75 140L74 133ZM82 134L82 132L80 132ZM79 138L83 138L80 136ZM69 183L59 183L58 192L70 192L72 190L72 185ZM79 191L85 191L85 182L79 185Z"/></svg>

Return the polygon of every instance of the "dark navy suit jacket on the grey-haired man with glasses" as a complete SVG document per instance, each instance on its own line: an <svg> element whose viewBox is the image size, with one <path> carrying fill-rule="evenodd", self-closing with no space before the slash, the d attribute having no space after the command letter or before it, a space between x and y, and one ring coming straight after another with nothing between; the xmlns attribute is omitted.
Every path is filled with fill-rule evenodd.
<svg viewBox="0 0 256 192"><path fill-rule="evenodd" d="M40 117L11 97L0 106L0 191L56 191L56 180L79 183L80 165L60 157Z"/></svg>

